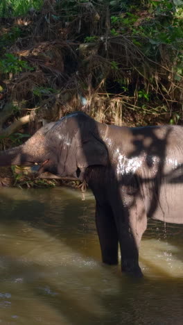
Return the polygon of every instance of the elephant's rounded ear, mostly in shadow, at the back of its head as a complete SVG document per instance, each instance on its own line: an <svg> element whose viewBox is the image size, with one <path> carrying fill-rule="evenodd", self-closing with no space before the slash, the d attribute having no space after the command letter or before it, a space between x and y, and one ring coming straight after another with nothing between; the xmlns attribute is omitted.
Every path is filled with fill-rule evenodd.
<svg viewBox="0 0 183 325"><path fill-rule="evenodd" d="M108 162L108 153L101 141L93 138L82 143L76 153L77 167L82 173L89 166L102 165L106 166Z"/></svg>

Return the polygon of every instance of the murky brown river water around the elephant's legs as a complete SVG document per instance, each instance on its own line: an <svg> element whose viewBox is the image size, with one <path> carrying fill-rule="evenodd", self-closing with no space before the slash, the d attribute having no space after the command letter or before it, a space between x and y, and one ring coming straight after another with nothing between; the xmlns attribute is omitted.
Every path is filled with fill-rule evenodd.
<svg viewBox="0 0 183 325"><path fill-rule="evenodd" d="M183 226L151 222L136 280L101 263L94 198L0 189L1 324L183 324Z"/></svg>

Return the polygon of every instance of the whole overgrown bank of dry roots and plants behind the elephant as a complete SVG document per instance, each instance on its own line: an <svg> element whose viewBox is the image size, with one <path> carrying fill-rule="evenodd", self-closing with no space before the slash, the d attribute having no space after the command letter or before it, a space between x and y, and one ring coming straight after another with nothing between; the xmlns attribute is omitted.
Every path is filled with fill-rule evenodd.
<svg viewBox="0 0 183 325"><path fill-rule="evenodd" d="M118 125L182 124L181 8L171 0L44 0L13 17L7 7L1 149L75 110Z"/></svg>

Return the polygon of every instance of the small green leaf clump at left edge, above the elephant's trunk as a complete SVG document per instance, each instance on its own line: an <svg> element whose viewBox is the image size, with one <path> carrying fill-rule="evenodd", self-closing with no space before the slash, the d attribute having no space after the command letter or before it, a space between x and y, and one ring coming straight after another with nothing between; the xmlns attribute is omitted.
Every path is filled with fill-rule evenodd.
<svg viewBox="0 0 183 325"><path fill-rule="evenodd" d="M33 67L30 67L24 60L19 60L17 56L11 53L6 53L5 58L0 60L0 72L1 74L18 74L23 70L30 71Z"/></svg>

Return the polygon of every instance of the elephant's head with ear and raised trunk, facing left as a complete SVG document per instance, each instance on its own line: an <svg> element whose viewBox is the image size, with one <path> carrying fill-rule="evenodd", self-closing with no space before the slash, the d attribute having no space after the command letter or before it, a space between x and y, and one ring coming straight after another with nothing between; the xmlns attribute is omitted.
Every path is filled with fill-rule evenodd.
<svg viewBox="0 0 183 325"><path fill-rule="evenodd" d="M0 166L39 165L39 172L83 179L85 169L107 165L105 124L78 112L46 124L19 147L1 151Z"/></svg>

